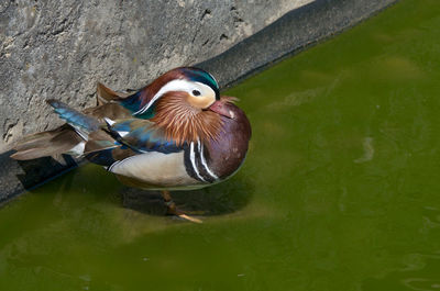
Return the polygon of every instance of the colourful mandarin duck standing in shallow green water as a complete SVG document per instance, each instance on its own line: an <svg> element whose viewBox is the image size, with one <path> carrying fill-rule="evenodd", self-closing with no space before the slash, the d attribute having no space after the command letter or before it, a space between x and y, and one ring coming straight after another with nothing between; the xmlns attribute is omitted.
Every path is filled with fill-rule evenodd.
<svg viewBox="0 0 440 291"><path fill-rule="evenodd" d="M134 93L98 83L97 99L81 112L47 100L66 123L24 137L11 157L85 157L127 186L161 190L168 214L200 222L178 210L168 191L200 189L238 171L251 125L235 99L220 96L212 75L194 67L169 70Z"/></svg>

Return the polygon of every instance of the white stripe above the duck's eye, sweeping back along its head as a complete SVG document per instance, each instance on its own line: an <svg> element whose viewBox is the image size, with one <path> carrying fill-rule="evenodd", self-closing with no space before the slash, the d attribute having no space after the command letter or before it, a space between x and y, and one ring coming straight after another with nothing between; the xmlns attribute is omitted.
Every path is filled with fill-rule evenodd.
<svg viewBox="0 0 440 291"><path fill-rule="evenodd" d="M150 100L148 103L146 103L143 108L141 108L139 111L134 112L133 115L142 114L145 111L147 111L151 105L157 101L162 96L164 96L167 92L172 91L186 91L190 94L193 94L194 90L198 90L201 94L204 91L211 90L213 91L209 86L202 83L202 82L191 82L188 80L184 79L178 79L178 80L173 80L165 86L161 88L161 90L157 91L157 93Z"/></svg>

